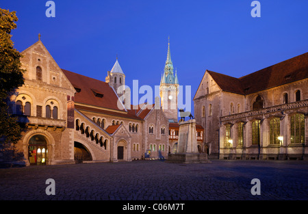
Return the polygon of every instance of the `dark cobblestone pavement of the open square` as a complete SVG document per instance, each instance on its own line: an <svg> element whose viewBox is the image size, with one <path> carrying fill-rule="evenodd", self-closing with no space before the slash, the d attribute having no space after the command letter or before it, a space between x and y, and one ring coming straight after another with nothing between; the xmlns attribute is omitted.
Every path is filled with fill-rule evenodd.
<svg viewBox="0 0 308 214"><path fill-rule="evenodd" d="M55 180L55 195L45 184ZM251 194L251 180L261 195ZM0 169L0 200L308 200L307 161L83 163Z"/></svg>

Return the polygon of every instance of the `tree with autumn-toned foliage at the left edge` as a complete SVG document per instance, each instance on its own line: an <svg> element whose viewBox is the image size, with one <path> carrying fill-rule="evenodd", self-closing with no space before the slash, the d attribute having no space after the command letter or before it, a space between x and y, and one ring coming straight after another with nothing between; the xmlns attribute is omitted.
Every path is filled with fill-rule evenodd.
<svg viewBox="0 0 308 214"><path fill-rule="evenodd" d="M11 31L16 29L16 12L0 8L0 159L15 160L14 144L21 139L21 126L8 111L8 96L24 83L21 69L22 57L11 40Z"/></svg>

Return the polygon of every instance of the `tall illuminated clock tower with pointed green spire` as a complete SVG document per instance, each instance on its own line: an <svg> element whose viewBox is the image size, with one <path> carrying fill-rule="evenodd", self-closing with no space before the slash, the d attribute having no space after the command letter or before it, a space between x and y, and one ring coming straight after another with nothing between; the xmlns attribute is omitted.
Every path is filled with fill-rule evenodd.
<svg viewBox="0 0 308 214"><path fill-rule="evenodd" d="M161 107L166 114L169 122L177 122L177 96L179 94L179 80L177 79L177 71L173 73L173 64L170 55L170 42L168 38L168 53L164 74L159 85L159 96L161 98Z"/></svg>

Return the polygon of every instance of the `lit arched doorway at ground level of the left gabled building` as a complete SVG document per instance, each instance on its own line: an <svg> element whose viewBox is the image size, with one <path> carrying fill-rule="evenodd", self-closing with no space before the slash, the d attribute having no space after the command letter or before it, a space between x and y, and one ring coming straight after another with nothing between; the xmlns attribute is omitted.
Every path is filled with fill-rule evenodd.
<svg viewBox="0 0 308 214"><path fill-rule="evenodd" d="M48 148L43 135L34 135L29 139L28 157L30 165L46 165Z"/></svg>

